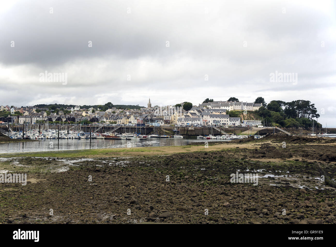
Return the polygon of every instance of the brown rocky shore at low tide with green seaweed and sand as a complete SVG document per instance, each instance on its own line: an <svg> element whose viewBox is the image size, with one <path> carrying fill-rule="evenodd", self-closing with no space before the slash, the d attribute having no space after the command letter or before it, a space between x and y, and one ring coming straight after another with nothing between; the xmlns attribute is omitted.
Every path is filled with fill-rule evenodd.
<svg viewBox="0 0 336 247"><path fill-rule="evenodd" d="M336 223L336 143L262 139L166 155L0 156L2 172L28 177L0 184L0 223ZM258 184L232 183L237 172Z"/></svg>

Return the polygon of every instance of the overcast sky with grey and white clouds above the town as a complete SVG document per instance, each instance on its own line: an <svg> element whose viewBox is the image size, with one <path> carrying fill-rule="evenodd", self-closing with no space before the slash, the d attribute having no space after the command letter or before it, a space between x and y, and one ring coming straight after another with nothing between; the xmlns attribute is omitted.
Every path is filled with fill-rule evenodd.
<svg viewBox="0 0 336 247"><path fill-rule="evenodd" d="M336 127L335 12L334 1L1 0L0 105L262 96L310 100ZM41 82L45 71L67 84ZM297 82L271 81L276 71Z"/></svg>

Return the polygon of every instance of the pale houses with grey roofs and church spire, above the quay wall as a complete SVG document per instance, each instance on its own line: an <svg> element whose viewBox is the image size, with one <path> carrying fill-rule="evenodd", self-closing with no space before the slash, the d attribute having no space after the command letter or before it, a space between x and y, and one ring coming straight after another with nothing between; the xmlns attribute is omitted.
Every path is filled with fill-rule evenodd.
<svg viewBox="0 0 336 247"><path fill-rule="evenodd" d="M111 107L106 111L94 108L81 108L79 106L66 109L50 110L49 108L39 107L9 107L1 106L0 112L10 112L8 116L3 116L0 121L4 123L28 123L36 124L44 121L68 122L68 123L106 123L115 125L164 125L175 124L183 125L223 125L240 126L245 125L239 117L229 117L229 111L255 111L262 104L255 104L242 101L213 101L194 105L190 110L183 109L181 106L155 106L152 107L149 99L146 108L140 109L117 109ZM66 113L66 114L65 114ZM13 116L16 115L16 116Z"/></svg>

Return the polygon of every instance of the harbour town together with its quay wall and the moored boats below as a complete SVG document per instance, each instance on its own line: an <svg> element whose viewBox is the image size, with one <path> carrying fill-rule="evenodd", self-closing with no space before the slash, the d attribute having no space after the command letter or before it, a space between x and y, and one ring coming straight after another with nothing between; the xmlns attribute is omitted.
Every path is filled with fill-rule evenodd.
<svg viewBox="0 0 336 247"><path fill-rule="evenodd" d="M274 103L277 104L273 101L270 105ZM278 104L277 106L280 108ZM261 110L266 109L262 103L210 100L198 105L184 102L175 106L152 107L149 99L147 107L137 107L138 109L121 107L117 109L111 102L99 107L86 109L74 106L65 109L55 106L49 108L1 106L3 117L0 118L0 131L12 139L32 140L56 138L145 140L183 138L197 134L197 138L200 139L230 140L247 138L249 135L261 138L263 135L259 134L267 131L290 134L279 128L276 123L267 123L267 118L264 120L258 115ZM239 117L230 117L232 114ZM336 136L334 133L318 133L317 124L315 123L314 128L312 121L311 135ZM229 134L232 128L234 133ZM239 134L236 134L236 128ZM271 129L265 132L267 128ZM159 134L159 131L162 134Z"/></svg>

